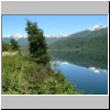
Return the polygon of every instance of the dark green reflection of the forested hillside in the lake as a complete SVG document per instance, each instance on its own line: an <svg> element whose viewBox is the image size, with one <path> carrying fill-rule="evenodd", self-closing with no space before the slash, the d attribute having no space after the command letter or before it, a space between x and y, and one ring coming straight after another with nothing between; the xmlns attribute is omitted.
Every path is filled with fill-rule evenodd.
<svg viewBox="0 0 110 110"><path fill-rule="evenodd" d="M76 64L76 65L81 65L85 67L97 67L97 68L102 68L107 69L108 68L108 63L103 61L103 56L98 57L97 54L89 54L89 53L84 53L84 52L70 52L70 51L64 51L64 52L57 52L57 51L52 51L50 52L52 56L52 61L65 61L67 63ZM56 59L55 59L56 58Z"/></svg>

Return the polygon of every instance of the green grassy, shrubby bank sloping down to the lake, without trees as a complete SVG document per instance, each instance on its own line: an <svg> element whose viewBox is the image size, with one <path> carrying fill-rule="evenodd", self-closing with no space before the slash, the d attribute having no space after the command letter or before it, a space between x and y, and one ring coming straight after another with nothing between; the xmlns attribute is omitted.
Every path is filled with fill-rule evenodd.
<svg viewBox="0 0 110 110"><path fill-rule="evenodd" d="M2 94L77 95L81 94L65 77L19 54L2 56Z"/></svg>

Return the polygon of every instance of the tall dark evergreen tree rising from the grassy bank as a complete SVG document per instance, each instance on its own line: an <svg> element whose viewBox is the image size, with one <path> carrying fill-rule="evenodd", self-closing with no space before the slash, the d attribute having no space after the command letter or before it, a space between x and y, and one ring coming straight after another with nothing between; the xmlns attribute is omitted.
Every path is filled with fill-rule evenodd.
<svg viewBox="0 0 110 110"><path fill-rule="evenodd" d="M32 59L37 64L50 64L47 45L43 35L43 30L38 29L36 22L26 21L29 50Z"/></svg>

